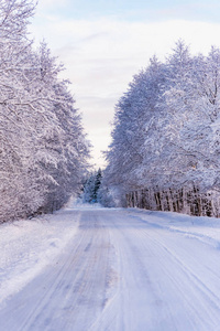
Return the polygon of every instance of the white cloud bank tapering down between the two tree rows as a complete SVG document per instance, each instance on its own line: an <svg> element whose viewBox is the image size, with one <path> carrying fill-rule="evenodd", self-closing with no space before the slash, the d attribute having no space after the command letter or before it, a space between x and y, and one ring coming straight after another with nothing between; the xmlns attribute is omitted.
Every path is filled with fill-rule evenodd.
<svg viewBox="0 0 220 331"><path fill-rule="evenodd" d="M44 21L36 18L31 29L36 41L44 36L53 54L65 64L64 75L73 82L73 93L84 113L99 164L100 149L107 149L110 141L109 122L114 105L151 56L157 54L164 60L179 38L190 44L193 53L207 54L212 44L220 46L220 24L185 20L63 21L47 15Z"/></svg>

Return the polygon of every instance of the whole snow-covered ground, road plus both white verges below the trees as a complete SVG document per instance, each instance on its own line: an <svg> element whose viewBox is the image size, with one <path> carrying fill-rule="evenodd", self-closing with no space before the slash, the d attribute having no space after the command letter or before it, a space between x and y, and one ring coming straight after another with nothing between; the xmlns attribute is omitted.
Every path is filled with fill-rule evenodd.
<svg viewBox="0 0 220 331"><path fill-rule="evenodd" d="M0 241L1 331L220 330L220 220L75 209Z"/></svg>

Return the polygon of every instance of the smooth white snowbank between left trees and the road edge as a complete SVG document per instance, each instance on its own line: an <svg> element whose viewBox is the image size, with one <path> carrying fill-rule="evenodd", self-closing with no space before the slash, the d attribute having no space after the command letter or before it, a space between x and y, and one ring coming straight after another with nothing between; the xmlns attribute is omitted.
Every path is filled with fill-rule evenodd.
<svg viewBox="0 0 220 331"><path fill-rule="evenodd" d="M53 264L75 236L78 217L66 210L0 225L0 303Z"/></svg>

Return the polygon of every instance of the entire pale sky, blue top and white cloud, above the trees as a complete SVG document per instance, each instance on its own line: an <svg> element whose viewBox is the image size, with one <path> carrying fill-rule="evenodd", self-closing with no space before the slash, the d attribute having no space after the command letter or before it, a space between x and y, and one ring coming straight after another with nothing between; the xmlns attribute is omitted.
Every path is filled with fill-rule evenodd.
<svg viewBox="0 0 220 331"><path fill-rule="evenodd" d="M132 76L154 54L165 58L178 39L194 54L220 47L220 1L38 0L30 30L64 63L94 145L91 162L103 167L114 105Z"/></svg>

